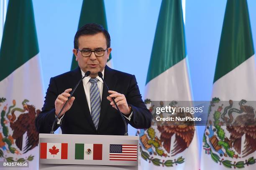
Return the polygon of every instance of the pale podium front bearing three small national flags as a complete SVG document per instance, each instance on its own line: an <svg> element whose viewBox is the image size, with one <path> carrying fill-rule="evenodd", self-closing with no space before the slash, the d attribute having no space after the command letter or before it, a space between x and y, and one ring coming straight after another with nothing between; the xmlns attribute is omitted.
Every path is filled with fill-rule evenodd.
<svg viewBox="0 0 256 170"><path fill-rule="evenodd" d="M138 170L138 136L39 134L39 170Z"/></svg>

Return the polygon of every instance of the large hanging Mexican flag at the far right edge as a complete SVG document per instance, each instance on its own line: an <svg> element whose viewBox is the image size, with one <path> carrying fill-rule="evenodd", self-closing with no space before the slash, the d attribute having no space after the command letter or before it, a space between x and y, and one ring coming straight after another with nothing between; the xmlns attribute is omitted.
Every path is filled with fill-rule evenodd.
<svg viewBox="0 0 256 170"><path fill-rule="evenodd" d="M246 0L228 0L201 170L256 169L256 68Z"/></svg>

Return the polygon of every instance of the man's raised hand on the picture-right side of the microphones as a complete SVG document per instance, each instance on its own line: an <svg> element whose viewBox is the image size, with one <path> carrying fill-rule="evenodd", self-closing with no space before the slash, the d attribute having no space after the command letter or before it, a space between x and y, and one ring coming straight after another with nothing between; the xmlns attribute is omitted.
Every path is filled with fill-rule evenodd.
<svg viewBox="0 0 256 170"><path fill-rule="evenodd" d="M115 107L115 103L112 100L112 97L115 97L115 102L118 105L120 112L122 112L124 115L131 114L131 108L129 108L128 106L125 95L115 92L113 90L109 90L108 93L110 93L110 95L107 97L107 99L110 101L110 105L112 105L112 107L117 109Z"/></svg>

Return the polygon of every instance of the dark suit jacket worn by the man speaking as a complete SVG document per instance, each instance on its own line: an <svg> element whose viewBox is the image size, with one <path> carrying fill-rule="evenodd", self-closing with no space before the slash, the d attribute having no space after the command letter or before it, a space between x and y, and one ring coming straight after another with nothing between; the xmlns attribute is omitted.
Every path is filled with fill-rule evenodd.
<svg viewBox="0 0 256 170"><path fill-rule="evenodd" d="M55 119L54 102L59 94L68 88L74 88L82 78L81 70L78 67L73 71L52 77L44 100L42 112L36 117L36 128L39 133L50 133L51 125ZM133 115L131 121L125 118L134 128L149 128L151 125L151 113L141 100L136 78L124 72L113 70L106 66L104 80L110 90L124 94L128 105L131 105ZM118 111L110 105L107 100L109 95L105 85L102 91L102 101L100 110L100 120L98 129L92 121L90 110L87 104L84 87L82 82L74 92L75 100L72 107L68 110L61 121L63 134L92 134L92 135L124 135L125 126ZM54 130L58 128L55 125Z"/></svg>

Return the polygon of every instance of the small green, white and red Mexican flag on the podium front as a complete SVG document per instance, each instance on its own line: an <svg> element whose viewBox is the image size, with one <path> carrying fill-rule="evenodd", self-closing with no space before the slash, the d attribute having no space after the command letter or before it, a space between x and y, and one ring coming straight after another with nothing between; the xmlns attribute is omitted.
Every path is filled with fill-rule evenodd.
<svg viewBox="0 0 256 170"><path fill-rule="evenodd" d="M102 160L102 144L75 144L76 160Z"/></svg>

